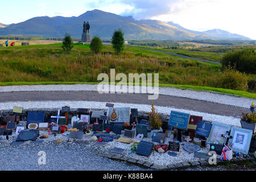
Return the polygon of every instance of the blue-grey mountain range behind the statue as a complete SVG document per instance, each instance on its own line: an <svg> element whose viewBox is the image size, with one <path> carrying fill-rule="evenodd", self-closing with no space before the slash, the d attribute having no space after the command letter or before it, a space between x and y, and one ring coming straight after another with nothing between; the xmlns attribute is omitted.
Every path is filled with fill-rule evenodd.
<svg viewBox="0 0 256 182"><path fill-rule="evenodd" d="M231 34L224 30L192 31L173 22L150 19L135 20L132 16L120 16L101 10L87 11L77 17L54 16L50 18L40 16L16 24L5 25L0 23L0 35L61 38L65 34L70 34L74 38L80 38L84 21L90 23L90 36L97 35L101 39L110 39L114 30L121 28L125 34L125 39L251 40L246 36Z"/></svg>

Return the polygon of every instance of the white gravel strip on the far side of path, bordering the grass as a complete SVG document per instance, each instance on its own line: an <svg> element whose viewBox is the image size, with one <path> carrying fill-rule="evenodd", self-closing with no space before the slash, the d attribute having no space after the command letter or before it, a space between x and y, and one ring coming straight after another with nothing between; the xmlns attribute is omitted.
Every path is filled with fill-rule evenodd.
<svg viewBox="0 0 256 182"><path fill-rule="evenodd" d="M0 86L0 92L31 92L31 91L97 91L98 85L76 84L76 85L20 85L20 86ZM140 90L142 88L140 87ZM171 87L160 87L159 94L192 98L196 100L216 102L225 105L233 105L249 108L251 98L230 96L214 92L205 92L197 90L183 90Z"/></svg>

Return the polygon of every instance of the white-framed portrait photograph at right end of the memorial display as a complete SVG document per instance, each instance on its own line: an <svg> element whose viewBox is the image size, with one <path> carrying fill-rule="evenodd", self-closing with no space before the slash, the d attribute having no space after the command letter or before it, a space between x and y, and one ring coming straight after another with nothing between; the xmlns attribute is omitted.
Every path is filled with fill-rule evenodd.
<svg viewBox="0 0 256 182"><path fill-rule="evenodd" d="M232 127L230 135L233 137L230 139L233 151L247 155L250 148L253 130Z"/></svg>

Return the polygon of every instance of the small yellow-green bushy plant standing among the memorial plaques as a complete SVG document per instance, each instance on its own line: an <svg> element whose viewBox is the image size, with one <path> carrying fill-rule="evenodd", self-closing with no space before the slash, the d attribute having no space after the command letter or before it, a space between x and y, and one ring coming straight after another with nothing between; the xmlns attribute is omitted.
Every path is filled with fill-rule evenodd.
<svg viewBox="0 0 256 182"><path fill-rule="evenodd" d="M163 125L162 120L160 119L160 114L157 113L154 107L154 103L151 105L151 113L148 114L148 119L150 123L151 133L150 136L154 134L154 132L158 132L160 127Z"/></svg>

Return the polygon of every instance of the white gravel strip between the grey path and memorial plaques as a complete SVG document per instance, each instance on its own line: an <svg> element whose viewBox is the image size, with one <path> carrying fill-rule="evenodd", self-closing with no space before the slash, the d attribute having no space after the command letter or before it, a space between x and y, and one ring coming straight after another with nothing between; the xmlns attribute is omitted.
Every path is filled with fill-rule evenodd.
<svg viewBox="0 0 256 182"><path fill-rule="evenodd" d="M137 108L141 111L151 111L151 105L142 105L142 104L129 104L129 103L114 103L114 107L131 107ZM22 101L22 102L0 102L0 110L13 109L14 106L23 107L23 109L31 108L61 108L62 106L70 106L71 109L77 108L97 108L104 109L106 108L106 102L95 102L95 101ZM238 126L240 125L240 118L229 117L225 115L216 115L202 113L199 111L185 110L185 109L176 109L175 107L163 107L155 106L159 113L170 114L171 110L180 111L182 113L188 113L192 115L201 115L206 121L216 121L221 123L226 123L228 125Z"/></svg>

